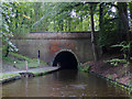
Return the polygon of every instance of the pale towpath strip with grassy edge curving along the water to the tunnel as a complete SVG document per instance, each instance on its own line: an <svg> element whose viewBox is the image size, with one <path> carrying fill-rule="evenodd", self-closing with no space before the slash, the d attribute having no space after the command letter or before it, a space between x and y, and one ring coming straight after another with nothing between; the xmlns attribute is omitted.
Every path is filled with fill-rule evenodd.
<svg viewBox="0 0 132 99"><path fill-rule="evenodd" d="M6 84L10 81L14 81L16 79L21 79L23 77L36 77L36 76L43 76L46 74L51 74L58 70L58 67L52 67L52 66L44 66L40 68L33 68L29 70L19 70L19 72L9 72L9 73L2 73L0 74L1 82Z"/></svg>

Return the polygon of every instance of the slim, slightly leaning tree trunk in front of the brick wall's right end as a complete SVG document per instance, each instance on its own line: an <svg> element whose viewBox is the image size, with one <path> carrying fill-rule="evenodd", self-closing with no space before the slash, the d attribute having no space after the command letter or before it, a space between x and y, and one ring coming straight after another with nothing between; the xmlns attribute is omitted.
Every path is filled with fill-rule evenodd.
<svg viewBox="0 0 132 99"><path fill-rule="evenodd" d="M99 55L98 55L98 48L96 43L92 3L90 3L90 20L91 20L91 43L92 43L92 50L94 50L94 57L95 57L95 61L98 61Z"/></svg>

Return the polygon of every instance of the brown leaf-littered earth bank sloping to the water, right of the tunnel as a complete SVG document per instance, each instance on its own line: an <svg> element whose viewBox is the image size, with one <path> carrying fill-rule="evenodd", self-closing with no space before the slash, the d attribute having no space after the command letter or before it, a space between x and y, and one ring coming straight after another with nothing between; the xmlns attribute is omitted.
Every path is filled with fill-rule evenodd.
<svg viewBox="0 0 132 99"><path fill-rule="evenodd" d="M106 63L110 58L101 58L98 62L87 62L81 64L82 70L109 80L112 84L127 89L132 95L132 64L130 63L130 66L124 66L123 64L112 66Z"/></svg>

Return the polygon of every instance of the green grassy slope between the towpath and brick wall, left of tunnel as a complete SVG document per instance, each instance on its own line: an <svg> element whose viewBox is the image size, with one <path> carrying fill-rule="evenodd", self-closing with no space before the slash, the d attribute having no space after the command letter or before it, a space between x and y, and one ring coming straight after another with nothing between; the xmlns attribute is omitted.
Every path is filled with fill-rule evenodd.
<svg viewBox="0 0 132 99"><path fill-rule="evenodd" d="M12 58L11 56L14 57L14 58ZM30 58L30 57L26 57L24 55L21 55L21 54L18 54L18 53L12 53L12 52L10 52L9 57L2 56L2 61L6 62L7 64L11 65L11 66L15 65L15 67L19 68L19 69L25 69L26 68L25 61L28 61L29 68L38 67L37 58ZM15 62L15 64L14 64L14 62ZM41 61L40 65L46 65L46 63Z"/></svg>

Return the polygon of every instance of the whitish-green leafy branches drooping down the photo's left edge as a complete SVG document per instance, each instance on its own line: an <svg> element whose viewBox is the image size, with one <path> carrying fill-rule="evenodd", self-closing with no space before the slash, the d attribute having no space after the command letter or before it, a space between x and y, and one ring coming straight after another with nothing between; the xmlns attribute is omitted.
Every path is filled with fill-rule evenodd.
<svg viewBox="0 0 132 99"><path fill-rule="evenodd" d="M11 3L0 3L1 14L2 14L2 26L0 28L0 37L2 37L2 50L6 52L6 57L9 55L9 51L18 51L15 45L10 41L10 37L13 36L12 31L10 29L11 16L10 12Z"/></svg>

